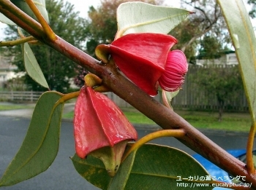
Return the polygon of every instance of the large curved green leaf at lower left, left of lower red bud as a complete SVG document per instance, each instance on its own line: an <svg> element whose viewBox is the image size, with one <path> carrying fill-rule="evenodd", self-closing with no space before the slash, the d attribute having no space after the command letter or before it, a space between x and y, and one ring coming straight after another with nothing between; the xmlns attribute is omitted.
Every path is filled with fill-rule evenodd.
<svg viewBox="0 0 256 190"><path fill-rule="evenodd" d="M62 96L45 92L37 101L29 129L20 150L7 167L0 186L11 186L44 172L59 150L59 131L64 103L55 103Z"/></svg>

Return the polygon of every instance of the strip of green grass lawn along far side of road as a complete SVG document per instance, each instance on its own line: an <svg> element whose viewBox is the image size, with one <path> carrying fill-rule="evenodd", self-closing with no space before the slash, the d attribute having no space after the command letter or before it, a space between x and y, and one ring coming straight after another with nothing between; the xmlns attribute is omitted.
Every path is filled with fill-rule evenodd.
<svg viewBox="0 0 256 190"><path fill-rule="evenodd" d="M176 111L177 114L187 120L192 126L198 129L234 130L249 132L251 119L249 114L224 113L222 122L218 121L218 113L203 111ZM124 114L130 122L138 124L154 124L151 119L132 109L125 109ZM72 118L74 112L64 114L64 118Z"/></svg>

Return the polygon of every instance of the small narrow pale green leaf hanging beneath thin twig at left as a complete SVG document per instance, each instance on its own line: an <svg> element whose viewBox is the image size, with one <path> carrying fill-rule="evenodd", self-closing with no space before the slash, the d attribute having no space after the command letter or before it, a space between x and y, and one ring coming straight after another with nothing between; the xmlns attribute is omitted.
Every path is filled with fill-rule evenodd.
<svg viewBox="0 0 256 190"><path fill-rule="evenodd" d="M26 72L35 82L42 85L42 87L46 87L49 89L45 76L42 73L42 70L39 64L37 63L37 59L35 58L31 48L29 47L29 44L28 43L21 44L21 47L23 50L23 59L24 59Z"/></svg>

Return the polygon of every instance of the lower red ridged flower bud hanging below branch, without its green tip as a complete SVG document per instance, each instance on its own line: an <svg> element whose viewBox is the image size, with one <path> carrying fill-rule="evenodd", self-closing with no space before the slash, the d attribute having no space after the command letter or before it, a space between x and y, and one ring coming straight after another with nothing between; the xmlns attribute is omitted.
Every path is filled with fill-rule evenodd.
<svg viewBox="0 0 256 190"><path fill-rule="evenodd" d="M75 151L80 158L102 147L138 138L116 104L91 87L82 87L75 103L74 135Z"/></svg>

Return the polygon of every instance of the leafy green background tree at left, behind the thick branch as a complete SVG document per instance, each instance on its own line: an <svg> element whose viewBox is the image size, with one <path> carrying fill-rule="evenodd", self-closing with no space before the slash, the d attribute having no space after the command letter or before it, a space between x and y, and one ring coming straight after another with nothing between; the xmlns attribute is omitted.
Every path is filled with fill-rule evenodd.
<svg viewBox="0 0 256 190"><path fill-rule="evenodd" d="M74 6L63 0L46 0L46 7L50 18L50 26L53 31L61 38L67 39L70 44L82 48L83 41L86 39L84 31L84 20L79 17L79 12L74 11ZM15 26L9 26L6 34L12 34L11 39L16 39L18 33ZM10 40L10 38L9 38ZM42 68L42 72L48 81L50 90L67 92L69 89L70 78L76 75L79 67L75 66L71 60L64 58L59 52L50 49L45 45L31 45L31 49L36 55L37 62ZM9 55L15 55L13 64L18 66L18 71L24 71L23 58L20 47L15 46L9 49ZM28 75L25 76L25 82L29 90L44 91L45 88L34 82Z"/></svg>

